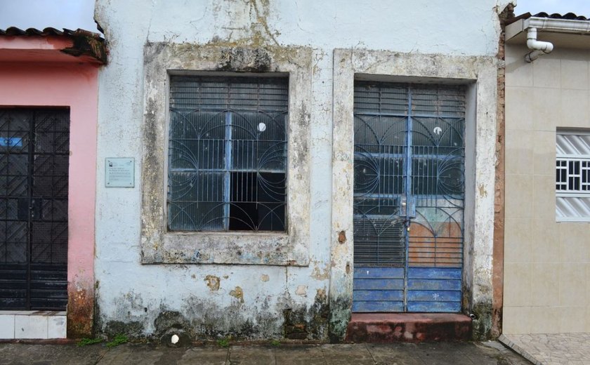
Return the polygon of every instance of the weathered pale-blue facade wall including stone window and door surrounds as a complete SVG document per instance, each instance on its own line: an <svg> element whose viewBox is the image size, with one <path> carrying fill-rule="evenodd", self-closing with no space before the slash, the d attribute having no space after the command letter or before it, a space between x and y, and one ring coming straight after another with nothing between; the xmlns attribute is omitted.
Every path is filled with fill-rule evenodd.
<svg viewBox="0 0 590 365"><path fill-rule="evenodd" d="M365 72L493 79L497 65L487 58L497 52L497 1L464 6L461 21L448 11L454 3L433 4L428 11L409 4L408 17L396 22L383 11L386 1L368 7L351 2L344 12L332 1L136 5L96 4L112 60L100 72L98 181L104 180L105 157L135 157L139 164L135 189L97 184L98 329L153 337L178 326L190 338L342 340L354 268L349 83ZM359 27L350 14L361 12L372 22ZM444 29L440 13L451 17ZM166 231L166 70L289 75L289 165L298 166L289 171L289 210L296 217L289 232ZM494 91L478 85L478 102L490 109L481 114L481 125L478 114L478 162L490 159L487 139L495 132L483 116L494 114L487 105ZM482 184L492 191L489 173L483 169L473 195ZM472 225L466 252L478 259L466 267L487 265L479 258L489 254L485 242L492 237L486 223L492 221L486 213L490 195L473 212L481 220ZM466 284L466 307L488 296L489 273L471 270L475 274L484 278ZM480 312L485 310L483 305Z"/></svg>

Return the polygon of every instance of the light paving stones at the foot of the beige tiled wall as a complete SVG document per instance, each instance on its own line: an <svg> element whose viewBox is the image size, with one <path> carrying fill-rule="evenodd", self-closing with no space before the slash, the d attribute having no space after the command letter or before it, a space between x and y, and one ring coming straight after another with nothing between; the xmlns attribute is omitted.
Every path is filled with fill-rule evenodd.
<svg viewBox="0 0 590 365"><path fill-rule="evenodd" d="M590 364L590 333L502 335L500 340L535 365Z"/></svg>

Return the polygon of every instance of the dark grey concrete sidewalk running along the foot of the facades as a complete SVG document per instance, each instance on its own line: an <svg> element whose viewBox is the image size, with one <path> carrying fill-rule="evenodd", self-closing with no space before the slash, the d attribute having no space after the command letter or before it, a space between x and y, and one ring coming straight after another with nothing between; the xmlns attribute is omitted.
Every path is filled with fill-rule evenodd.
<svg viewBox="0 0 590 365"><path fill-rule="evenodd" d="M0 364L301 364L301 365L530 365L497 342L392 343L386 345L28 345L0 344Z"/></svg>

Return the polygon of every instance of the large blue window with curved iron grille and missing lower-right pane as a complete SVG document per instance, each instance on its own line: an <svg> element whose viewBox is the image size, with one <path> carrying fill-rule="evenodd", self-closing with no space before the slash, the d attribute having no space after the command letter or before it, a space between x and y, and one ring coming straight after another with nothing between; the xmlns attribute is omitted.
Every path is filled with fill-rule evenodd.
<svg viewBox="0 0 590 365"><path fill-rule="evenodd" d="M288 79L170 81L169 230L284 232Z"/></svg>

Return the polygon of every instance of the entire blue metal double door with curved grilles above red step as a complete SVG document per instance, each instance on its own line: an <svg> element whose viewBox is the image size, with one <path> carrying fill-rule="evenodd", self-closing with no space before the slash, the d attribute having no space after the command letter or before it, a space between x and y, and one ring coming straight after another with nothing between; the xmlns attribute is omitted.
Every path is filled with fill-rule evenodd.
<svg viewBox="0 0 590 365"><path fill-rule="evenodd" d="M459 312L464 89L355 83L353 312Z"/></svg>

